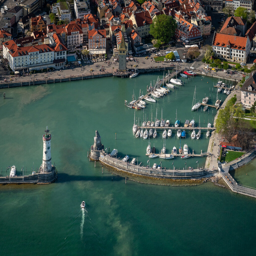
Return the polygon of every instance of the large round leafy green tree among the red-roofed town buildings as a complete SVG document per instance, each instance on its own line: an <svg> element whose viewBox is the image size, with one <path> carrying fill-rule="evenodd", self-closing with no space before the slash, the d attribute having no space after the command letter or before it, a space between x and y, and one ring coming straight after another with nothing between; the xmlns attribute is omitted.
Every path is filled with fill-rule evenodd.
<svg viewBox="0 0 256 256"><path fill-rule="evenodd" d="M174 38L177 24L172 16L161 14L153 19L150 25L150 34L162 42L169 42Z"/></svg>

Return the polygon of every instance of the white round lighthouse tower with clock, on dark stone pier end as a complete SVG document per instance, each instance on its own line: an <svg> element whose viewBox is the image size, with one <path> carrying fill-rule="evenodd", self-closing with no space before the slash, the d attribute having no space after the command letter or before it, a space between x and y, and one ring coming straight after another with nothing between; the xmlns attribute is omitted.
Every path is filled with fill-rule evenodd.
<svg viewBox="0 0 256 256"><path fill-rule="evenodd" d="M41 165L42 172L51 172L51 134L48 126L46 126L45 134L43 135L43 163Z"/></svg>

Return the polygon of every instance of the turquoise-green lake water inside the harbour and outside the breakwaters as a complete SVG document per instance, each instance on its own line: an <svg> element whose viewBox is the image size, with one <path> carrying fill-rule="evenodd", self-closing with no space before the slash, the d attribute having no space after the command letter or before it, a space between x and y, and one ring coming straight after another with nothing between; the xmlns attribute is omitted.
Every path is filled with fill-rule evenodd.
<svg viewBox="0 0 256 256"><path fill-rule="evenodd" d="M134 79L102 78L0 90L0 166L38 168L42 162L42 134L52 134L52 162L57 182L49 185L0 186L1 255L223 255L252 254L255 240L255 199L204 184L194 187L145 185L113 176L99 163L89 162L87 151L95 130L104 147L117 148L146 164L148 140L132 134L134 110L124 106L133 90L145 91L157 73ZM162 74L160 74L162 76ZM202 80L201 80L202 79ZM208 83L207 83L208 82ZM163 107L163 117L197 125L212 122L208 113L192 113L194 86L198 98L211 93L216 79L197 77L177 91L147 104L151 119ZM209 87L211 92L209 92ZM3 100L2 93L6 92ZM224 96L222 96L224 98ZM136 111L143 118L143 111ZM196 126L197 126L196 125ZM117 139L115 140L115 133ZM189 150L206 151L204 133L199 141L182 140ZM161 150L163 139L155 143ZM166 140L166 148L180 141ZM187 165L205 164L205 158L187 159ZM176 168L184 161L174 159ZM163 167L171 162L163 161ZM86 211L80 204L86 202ZM239 239L237 239L239 236Z"/></svg>

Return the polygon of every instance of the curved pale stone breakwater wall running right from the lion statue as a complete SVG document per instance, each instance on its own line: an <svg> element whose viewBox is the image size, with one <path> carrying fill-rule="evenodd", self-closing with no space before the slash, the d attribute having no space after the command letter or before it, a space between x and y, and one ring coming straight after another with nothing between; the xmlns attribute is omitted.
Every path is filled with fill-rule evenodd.
<svg viewBox="0 0 256 256"><path fill-rule="evenodd" d="M206 171L205 170L177 170L177 169L153 169L141 167L138 164L131 165L129 163L126 164L126 162L122 162L118 158L110 157L108 154L106 154L104 151L100 152L100 158L99 161L101 164L111 167L113 169L116 169L118 171L130 173L130 174L136 174L146 177L154 177L154 178L165 178L165 179L191 179L191 178L202 178L205 176Z"/></svg>

